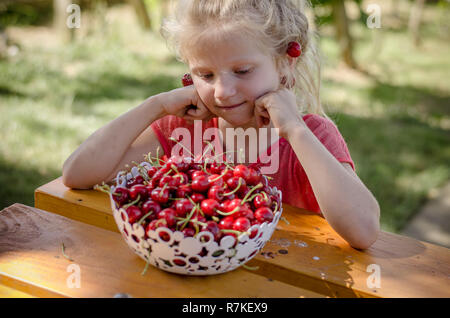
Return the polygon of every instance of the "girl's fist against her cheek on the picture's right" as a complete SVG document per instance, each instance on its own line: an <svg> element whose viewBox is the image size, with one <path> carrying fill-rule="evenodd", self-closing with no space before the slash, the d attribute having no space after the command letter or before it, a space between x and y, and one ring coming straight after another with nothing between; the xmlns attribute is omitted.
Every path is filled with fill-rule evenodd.
<svg viewBox="0 0 450 318"><path fill-rule="evenodd" d="M286 88L266 93L256 99L255 116L258 128L268 126L272 121L283 138L286 138L295 126L307 127L298 111L294 93Z"/></svg>

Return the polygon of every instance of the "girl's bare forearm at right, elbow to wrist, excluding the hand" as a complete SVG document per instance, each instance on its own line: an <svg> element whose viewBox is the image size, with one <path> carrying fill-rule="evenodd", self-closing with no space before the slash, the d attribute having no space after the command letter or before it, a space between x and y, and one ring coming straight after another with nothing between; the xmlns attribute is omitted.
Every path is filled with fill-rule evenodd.
<svg viewBox="0 0 450 318"><path fill-rule="evenodd" d="M369 248L380 231L380 206L372 193L351 167L341 164L306 125L292 127L286 138L328 223L352 247Z"/></svg>

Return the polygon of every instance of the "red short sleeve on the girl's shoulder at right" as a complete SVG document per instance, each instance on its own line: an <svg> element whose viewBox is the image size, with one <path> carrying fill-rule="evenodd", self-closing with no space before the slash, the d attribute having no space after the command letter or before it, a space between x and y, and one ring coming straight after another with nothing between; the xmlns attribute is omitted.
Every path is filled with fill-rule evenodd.
<svg viewBox="0 0 450 318"><path fill-rule="evenodd" d="M309 114L304 116L304 121L317 139L339 162L347 162L355 170L355 163L350 156L347 143L337 126L330 119Z"/></svg>

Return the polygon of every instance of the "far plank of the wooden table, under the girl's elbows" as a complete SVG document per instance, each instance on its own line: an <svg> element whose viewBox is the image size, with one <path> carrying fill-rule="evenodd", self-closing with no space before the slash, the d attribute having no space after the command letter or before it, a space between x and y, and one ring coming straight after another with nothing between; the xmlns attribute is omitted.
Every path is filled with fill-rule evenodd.
<svg viewBox="0 0 450 318"><path fill-rule="evenodd" d="M61 178L36 190L35 206L118 231L106 194L71 190ZM447 248L382 231L372 247L361 251L312 212L283 204L283 216L287 222L278 223L263 251L248 263L259 266L254 274L329 297L450 296Z"/></svg>

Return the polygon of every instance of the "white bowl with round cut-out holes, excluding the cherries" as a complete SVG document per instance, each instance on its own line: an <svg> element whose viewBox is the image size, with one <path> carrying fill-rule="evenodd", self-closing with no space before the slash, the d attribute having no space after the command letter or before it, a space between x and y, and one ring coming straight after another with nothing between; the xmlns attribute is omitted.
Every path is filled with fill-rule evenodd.
<svg viewBox="0 0 450 318"><path fill-rule="evenodd" d="M142 166L148 164L141 163ZM133 167L127 175L118 174L116 184L124 186L126 181L138 174ZM281 191L274 188L280 196ZM112 188L114 191L114 187ZM248 232L257 229L253 238L242 234L236 239L233 236L224 236L220 242L215 242L212 233L200 232L196 237L184 237L180 231L173 232L168 228L160 227L147 233L137 223L128 223L127 213L118 208L110 194L111 208L119 231L128 246L149 264L162 270L185 275L214 275L236 269L252 259L264 247L272 236L282 214L282 207L275 213L272 222L253 225ZM169 237L167 241L161 238ZM203 237L203 238L202 238Z"/></svg>

